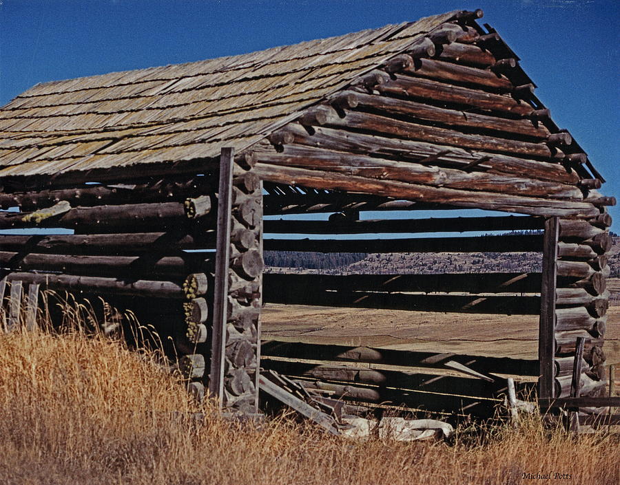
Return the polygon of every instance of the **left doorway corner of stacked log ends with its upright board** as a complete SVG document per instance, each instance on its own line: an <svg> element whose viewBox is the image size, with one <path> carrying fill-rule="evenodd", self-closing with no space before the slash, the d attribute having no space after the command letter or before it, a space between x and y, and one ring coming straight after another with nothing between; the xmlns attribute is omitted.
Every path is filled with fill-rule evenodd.
<svg viewBox="0 0 620 485"><path fill-rule="evenodd" d="M229 413L258 411L262 183L251 154L220 155L209 394Z"/></svg>

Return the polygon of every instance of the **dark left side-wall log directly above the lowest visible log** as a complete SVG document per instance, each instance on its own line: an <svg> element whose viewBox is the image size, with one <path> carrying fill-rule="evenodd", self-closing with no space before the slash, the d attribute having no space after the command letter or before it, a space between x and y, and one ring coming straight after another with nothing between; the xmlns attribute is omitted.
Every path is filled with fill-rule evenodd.
<svg viewBox="0 0 620 485"><path fill-rule="evenodd" d="M212 270L213 258L183 256L81 256L0 251L0 268L21 271L54 271L83 276L183 277L196 270Z"/></svg>

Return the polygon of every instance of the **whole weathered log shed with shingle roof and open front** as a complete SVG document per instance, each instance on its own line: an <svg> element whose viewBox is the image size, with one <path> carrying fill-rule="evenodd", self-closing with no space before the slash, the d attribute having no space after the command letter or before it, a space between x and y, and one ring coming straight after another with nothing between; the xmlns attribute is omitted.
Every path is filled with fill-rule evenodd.
<svg viewBox="0 0 620 485"><path fill-rule="evenodd" d="M236 413L258 410L260 314L270 301L537 314L539 398L568 398L579 337L581 396L599 395L606 206L615 199L599 192L602 175L481 17L481 10L447 12L25 91L0 109L0 229L72 233L0 234L0 298L11 283L14 299L27 285L30 301L39 288L53 288L105 294L137 313L152 312L156 302L174 327L192 391ZM420 209L514 215L416 218ZM412 217L369 221L360 211ZM334 217L265 219L308 213ZM450 230L539 233L355 238ZM290 233L349 238L282 236ZM264 250L539 251L543 267L529 274L262 274ZM12 302L10 321L18 317ZM299 345L291 352L304 354ZM298 369L304 372L333 376ZM385 376L366 378L400 379Z"/></svg>

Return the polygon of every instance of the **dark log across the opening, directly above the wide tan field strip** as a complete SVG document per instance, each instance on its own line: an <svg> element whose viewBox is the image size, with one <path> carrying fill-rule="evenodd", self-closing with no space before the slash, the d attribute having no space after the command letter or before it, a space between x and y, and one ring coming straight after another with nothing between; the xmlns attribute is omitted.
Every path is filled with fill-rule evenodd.
<svg viewBox="0 0 620 485"><path fill-rule="evenodd" d="M317 291L308 288L274 288L265 285L262 294L267 303L318 305L345 308L380 308L424 312L463 312L535 315L540 312L540 297L472 296L446 294L403 294L382 292Z"/></svg>

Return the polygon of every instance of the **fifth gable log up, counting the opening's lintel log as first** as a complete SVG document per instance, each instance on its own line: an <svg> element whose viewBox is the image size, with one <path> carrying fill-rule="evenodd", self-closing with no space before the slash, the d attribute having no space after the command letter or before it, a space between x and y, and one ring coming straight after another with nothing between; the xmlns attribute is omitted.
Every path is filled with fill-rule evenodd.
<svg viewBox="0 0 620 485"><path fill-rule="evenodd" d="M349 96L355 99L355 106L351 106L351 108L361 106L383 113L411 116L420 120L438 122L448 127L490 130L497 133L504 133L504 137L506 138L516 134L542 139L548 135L548 130L544 125L541 123L535 125L528 119L510 120L498 116L469 113L457 109L446 109L427 105L425 103L416 103L411 100L391 98L389 96L354 93L353 91L345 92L349 93Z"/></svg>

